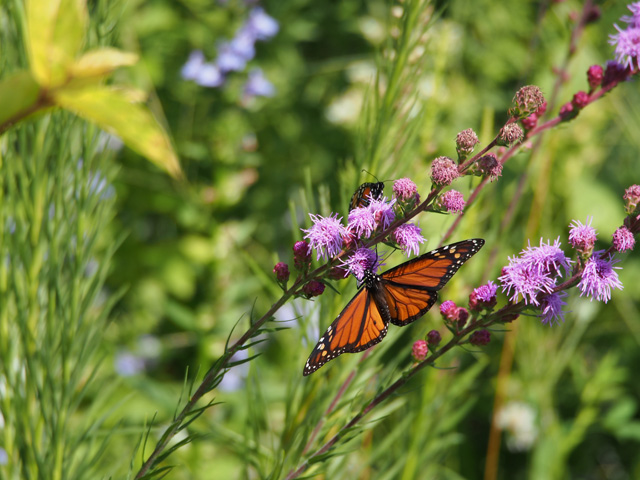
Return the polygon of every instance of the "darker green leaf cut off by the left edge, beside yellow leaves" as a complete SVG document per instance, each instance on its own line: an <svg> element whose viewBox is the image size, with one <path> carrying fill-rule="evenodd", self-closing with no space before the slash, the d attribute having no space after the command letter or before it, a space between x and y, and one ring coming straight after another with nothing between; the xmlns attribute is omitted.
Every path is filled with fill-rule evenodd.
<svg viewBox="0 0 640 480"><path fill-rule="evenodd" d="M0 131L36 110L40 87L30 72L14 73L0 83Z"/></svg>

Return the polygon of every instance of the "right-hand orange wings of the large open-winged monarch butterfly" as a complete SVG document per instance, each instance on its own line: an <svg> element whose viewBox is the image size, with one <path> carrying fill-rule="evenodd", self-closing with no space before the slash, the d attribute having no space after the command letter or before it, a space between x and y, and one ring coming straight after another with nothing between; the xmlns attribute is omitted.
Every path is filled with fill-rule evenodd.
<svg viewBox="0 0 640 480"><path fill-rule="evenodd" d="M483 245L481 238L452 243L384 272L381 281L391 323L403 327L424 315L436 302L436 292Z"/></svg>

